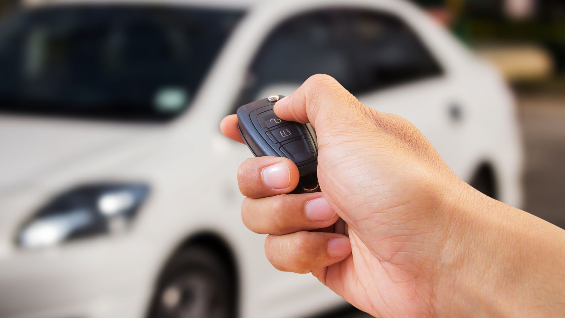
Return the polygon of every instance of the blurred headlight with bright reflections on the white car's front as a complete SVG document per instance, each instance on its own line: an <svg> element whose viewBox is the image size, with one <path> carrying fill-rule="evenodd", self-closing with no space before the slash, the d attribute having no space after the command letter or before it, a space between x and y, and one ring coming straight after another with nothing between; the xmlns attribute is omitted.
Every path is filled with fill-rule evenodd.
<svg viewBox="0 0 565 318"><path fill-rule="evenodd" d="M126 230L149 195L144 183L82 184L56 195L20 227L16 244L45 248Z"/></svg>

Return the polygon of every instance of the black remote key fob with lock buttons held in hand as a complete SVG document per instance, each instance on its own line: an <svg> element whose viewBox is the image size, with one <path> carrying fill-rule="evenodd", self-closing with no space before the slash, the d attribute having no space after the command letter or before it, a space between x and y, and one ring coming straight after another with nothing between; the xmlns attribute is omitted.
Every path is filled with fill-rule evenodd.
<svg viewBox="0 0 565 318"><path fill-rule="evenodd" d="M241 135L255 157L286 157L296 164L300 182L293 194L320 191L314 131L310 125L283 121L275 115L273 106L282 97L273 95L238 108Z"/></svg>

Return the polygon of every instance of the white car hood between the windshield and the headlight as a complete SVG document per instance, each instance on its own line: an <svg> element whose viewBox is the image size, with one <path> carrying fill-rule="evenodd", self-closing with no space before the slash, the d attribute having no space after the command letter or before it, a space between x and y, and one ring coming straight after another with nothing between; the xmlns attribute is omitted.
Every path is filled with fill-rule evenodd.
<svg viewBox="0 0 565 318"><path fill-rule="evenodd" d="M0 194L63 169L80 167L87 160L123 152L160 128L155 124L0 115Z"/></svg>

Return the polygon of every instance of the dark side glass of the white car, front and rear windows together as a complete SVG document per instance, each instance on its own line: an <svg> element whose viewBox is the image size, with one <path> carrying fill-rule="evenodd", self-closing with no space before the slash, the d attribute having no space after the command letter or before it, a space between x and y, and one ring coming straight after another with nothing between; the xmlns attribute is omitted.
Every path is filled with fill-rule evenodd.
<svg viewBox="0 0 565 318"><path fill-rule="evenodd" d="M266 38L234 106L254 101L268 87L298 87L317 73L362 94L442 71L418 36L394 15L344 8L311 11L286 20Z"/></svg>

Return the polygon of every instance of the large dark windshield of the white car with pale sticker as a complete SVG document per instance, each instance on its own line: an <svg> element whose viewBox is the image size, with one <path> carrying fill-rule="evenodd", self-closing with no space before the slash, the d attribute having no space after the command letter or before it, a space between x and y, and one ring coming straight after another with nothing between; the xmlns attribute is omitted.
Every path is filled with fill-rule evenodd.
<svg viewBox="0 0 565 318"><path fill-rule="evenodd" d="M173 118L242 16L137 5L25 11L0 25L0 111Z"/></svg>

